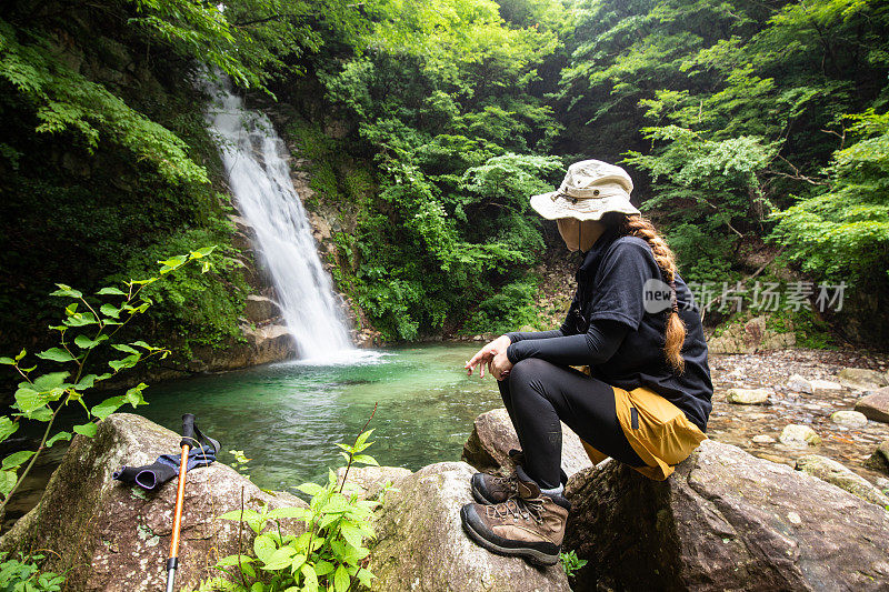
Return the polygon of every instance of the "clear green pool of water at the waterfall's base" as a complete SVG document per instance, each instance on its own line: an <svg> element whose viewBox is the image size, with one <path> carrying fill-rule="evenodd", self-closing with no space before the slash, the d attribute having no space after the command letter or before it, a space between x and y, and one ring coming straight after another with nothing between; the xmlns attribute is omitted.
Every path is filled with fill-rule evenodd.
<svg viewBox="0 0 889 592"><path fill-rule="evenodd" d="M433 344L368 354L352 364L283 362L151 387L136 412L176 432L181 414L222 443L222 462L242 450L261 488L284 490L323 479L342 462L378 404L368 453L380 464L417 470L460 459L476 415L499 407L496 381L462 369L479 344ZM124 410L129 410L124 409Z"/></svg>

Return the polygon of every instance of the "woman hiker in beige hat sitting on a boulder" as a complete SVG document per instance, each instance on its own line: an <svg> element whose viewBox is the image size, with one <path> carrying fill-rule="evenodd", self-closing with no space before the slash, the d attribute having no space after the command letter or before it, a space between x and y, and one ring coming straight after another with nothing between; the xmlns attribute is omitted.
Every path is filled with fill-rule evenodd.
<svg viewBox="0 0 889 592"><path fill-rule="evenodd" d="M577 294L560 329L507 333L466 363L498 380L521 444L516 473L475 474L478 503L460 511L467 534L495 553L559 560L571 508L559 421L595 463L611 456L659 481L707 439L713 387L699 310L631 191L623 169L586 160L558 191L531 198L583 254Z"/></svg>

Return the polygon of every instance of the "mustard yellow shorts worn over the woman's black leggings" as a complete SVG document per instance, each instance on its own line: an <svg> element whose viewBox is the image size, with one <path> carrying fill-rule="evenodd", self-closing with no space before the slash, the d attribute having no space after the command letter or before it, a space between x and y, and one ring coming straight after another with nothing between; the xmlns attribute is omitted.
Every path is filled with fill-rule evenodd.
<svg viewBox="0 0 889 592"><path fill-rule="evenodd" d="M663 481L707 434L691 423L682 411L655 391L639 387L625 391L615 390L615 407L618 421L630 445L646 462L646 466L633 466L655 481ZM598 464L608 458L583 442L590 460Z"/></svg>

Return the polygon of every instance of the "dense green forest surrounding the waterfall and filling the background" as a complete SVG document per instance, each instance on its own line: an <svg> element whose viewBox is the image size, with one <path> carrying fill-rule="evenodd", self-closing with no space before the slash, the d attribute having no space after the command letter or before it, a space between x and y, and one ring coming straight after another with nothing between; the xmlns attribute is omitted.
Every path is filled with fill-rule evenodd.
<svg viewBox="0 0 889 592"><path fill-rule="evenodd" d="M758 279L806 299L845 282L841 313L796 323L885 344L887 74L875 0L8 0L0 348L42 339L56 282L209 244L214 271L149 287L139 331L237 335L249 288L202 77L311 159L307 207L348 220L334 279L390 340L538 323L552 229L528 197L597 158L631 172L687 281L777 257Z"/></svg>

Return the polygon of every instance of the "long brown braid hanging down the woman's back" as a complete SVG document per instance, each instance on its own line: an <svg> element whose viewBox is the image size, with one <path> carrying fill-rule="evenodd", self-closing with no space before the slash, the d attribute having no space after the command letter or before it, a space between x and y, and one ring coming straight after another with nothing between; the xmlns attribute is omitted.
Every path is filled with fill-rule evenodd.
<svg viewBox="0 0 889 592"><path fill-rule="evenodd" d="M663 355L673 370L681 374L686 369L686 361L680 352L682 343L686 341L686 323L679 317L679 302L676 297L676 255L646 217L641 214L617 214L608 218L610 220L607 223L616 223L620 235L639 237L648 242L649 247L651 247L651 252L655 254L655 261L670 284L672 310L667 318L667 327L663 332Z"/></svg>

